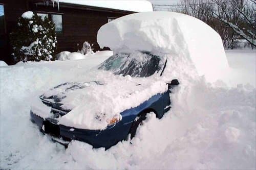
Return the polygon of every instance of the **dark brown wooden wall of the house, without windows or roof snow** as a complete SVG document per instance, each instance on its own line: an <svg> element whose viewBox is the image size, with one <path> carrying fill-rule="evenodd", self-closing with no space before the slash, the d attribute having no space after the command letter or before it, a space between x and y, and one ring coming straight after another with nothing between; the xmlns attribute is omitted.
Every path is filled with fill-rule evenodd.
<svg viewBox="0 0 256 170"><path fill-rule="evenodd" d="M84 41L94 44L94 51L100 50L96 36L99 28L108 22L108 17L121 17L133 13L67 4L60 4L60 9L58 10L57 5L55 4L53 7L51 2L47 6L46 3L35 5L26 0L0 0L0 4L5 5L7 33L10 33L16 27L18 17L27 10L62 14L63 33L57 35L57 52L76 52L78 48L81 48ZM10 50L8 53L10 53ZM10 64L8 59L1 57L0 60L5 60Z"/></svg>

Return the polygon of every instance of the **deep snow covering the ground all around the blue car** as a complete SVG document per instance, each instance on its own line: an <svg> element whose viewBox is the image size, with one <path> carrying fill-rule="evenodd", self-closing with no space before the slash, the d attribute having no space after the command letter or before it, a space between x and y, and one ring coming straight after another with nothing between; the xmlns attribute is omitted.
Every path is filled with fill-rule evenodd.
<svg viewBox="0 0 256 170"><path fill-rule="evenodd" d="M255 169L255 53L226 51L228 74L214 83L202 77L177 88L162 119L149 115L131 142L107 151L79 141L65 149L29 118L31 99L81 78L109 54L0 66L0 168Z"/></svg>

